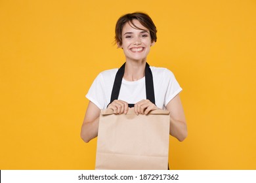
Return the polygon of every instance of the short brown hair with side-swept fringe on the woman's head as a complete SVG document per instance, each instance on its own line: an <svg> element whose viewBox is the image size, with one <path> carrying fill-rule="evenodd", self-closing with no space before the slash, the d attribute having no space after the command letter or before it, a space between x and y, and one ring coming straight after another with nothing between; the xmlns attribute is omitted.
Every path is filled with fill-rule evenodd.
<svg viewBox="0 0 256 183"><path fill-rule="evenodd" d="M156 42L157 29L156 29L156 25L154 24L154 22L152 21L150 16L148 16L148 14L146 14L144 12L133 12L133 13L129 13L129 14L125 14L125 15L121 16L116 22L116 36L115 36L115 39L116 39L116 44L118 46L121 46L121 44L123 43L123 41L122 41L122 31L123 31L123 26L127 22L131 23L135 28L140 29L135 24L133 24L133 20L138 20L141 25L146 27L150 31L151 41Z"/></svg>

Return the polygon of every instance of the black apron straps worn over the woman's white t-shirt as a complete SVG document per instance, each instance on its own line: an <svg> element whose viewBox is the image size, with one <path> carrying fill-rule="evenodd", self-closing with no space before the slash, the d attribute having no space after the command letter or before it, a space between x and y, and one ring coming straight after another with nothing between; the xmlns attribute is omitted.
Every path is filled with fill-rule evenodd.
<svg viewBox="0 0 256 183"><path fill-rule="evenodd" d="M116 73L116 78L112 88L110 103L118 99L124 73L125 73L125 63L123 63L123 65L120 67L120 69L118 69ZM148 65L148 63L146 63L146 67L145 67L145 82L146 82L146 99L156 104L155 94L154 94L153 75L150 69L150 65ZM134 104L129 104L129 107L134 107Z"/></svg>

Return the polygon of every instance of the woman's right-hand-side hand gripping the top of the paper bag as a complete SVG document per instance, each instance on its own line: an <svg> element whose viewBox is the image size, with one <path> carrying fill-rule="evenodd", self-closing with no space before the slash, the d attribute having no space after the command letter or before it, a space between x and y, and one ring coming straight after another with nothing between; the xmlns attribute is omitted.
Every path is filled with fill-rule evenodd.
<svg viewBox="0 0 256 183"><path fill-rule="evenodd" d="M156 107L156 105L154 105L154 103L152 103L148 99L139 101L134 105L134 111L135 111L135 114L137 115L148 114L150 110L155 110L155 109L158 109L158 107Z"/></svg>

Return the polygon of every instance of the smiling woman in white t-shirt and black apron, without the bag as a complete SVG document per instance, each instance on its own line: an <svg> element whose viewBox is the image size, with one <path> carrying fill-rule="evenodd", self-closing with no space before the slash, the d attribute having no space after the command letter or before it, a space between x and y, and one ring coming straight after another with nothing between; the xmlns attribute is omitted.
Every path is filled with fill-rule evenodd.
<svg viewBox="0 0 256 183"><path fill-rule="evenodd" d="M169 110L170 135L179 141L186 138L186 120L179 97L181 87L171 71L160 67L148 67L146 63L150 47L157 39L156 31L151 18L142 12L125 14L117 20L116 43L125 54L125 65L121 67L121 87L116 99L113 99L112 89L114 82L116 83L118 69L104 71L96 77L86 95L89 105L81 127L83 141L89 142L97 137L100 109L111 108L115 114L127 114L129 104L134 104L133 110L137 115L148 114L150 110L157 108ZM153 97L156 100L153 102L146 96L147 71L153 77Z"/></svg>

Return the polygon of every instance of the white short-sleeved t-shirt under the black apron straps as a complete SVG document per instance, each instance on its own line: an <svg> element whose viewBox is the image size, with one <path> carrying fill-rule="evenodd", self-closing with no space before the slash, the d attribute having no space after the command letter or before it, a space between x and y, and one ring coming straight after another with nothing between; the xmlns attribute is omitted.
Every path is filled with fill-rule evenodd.
<svg viewBox="0 0 256 183"><path fill-rule="evenodd" d="M166 105L182 88L171 71L161 67L150 67L153 75L156 106L165 109ZM110 103L112 88L118 69L110 69L100 73L94 80L86 97L98 108L107 108ZM135 104L146 99L145 77L137 81L121 82L119 100Z"/></svg>

